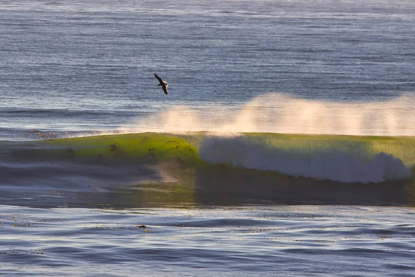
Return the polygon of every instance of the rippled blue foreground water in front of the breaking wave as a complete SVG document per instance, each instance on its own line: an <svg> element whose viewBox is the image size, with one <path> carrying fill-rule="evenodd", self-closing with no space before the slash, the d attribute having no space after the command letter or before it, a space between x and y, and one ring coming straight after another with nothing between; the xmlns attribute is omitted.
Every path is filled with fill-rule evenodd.
<svg viewBox="0 0 415 277"><path fill-rule="evenodd" d="M6 275L412 276L414 210L1 206Z"/></svg>

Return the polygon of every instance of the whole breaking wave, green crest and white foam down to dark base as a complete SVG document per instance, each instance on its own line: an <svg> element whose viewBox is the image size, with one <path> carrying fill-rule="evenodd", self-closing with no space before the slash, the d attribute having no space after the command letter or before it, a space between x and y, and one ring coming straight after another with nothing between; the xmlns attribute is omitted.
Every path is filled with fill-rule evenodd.
<svg viewBox="0 0 415 277"><path fill-rule="evenodd" d="M0 203L412 205L414 161L413 137L202 132L0 141Z"/></svg>

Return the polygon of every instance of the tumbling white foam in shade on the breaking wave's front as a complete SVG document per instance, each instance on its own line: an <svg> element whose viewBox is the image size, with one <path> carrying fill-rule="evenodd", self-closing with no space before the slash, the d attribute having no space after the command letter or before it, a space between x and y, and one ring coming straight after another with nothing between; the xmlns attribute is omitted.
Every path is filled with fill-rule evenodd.
<svg viewBox="0 0 415 277"><path fill-rule="evenodd" d="M300 150L274 148L265 142L248 142L243 136L208 136L199 154L209 163L272 170L291 176L329 179L340 182L382 182L411 176L400 159L380 153L370 161L340 151L306 154Z"/></svg>

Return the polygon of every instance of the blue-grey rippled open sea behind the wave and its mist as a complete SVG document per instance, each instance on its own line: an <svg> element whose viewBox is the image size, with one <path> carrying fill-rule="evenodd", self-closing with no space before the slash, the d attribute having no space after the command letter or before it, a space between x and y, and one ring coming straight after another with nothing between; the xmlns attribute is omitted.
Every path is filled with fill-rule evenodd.
<svg viewBox="0 0 415 277"><path fill-rule="evenodd" d="M270 92L413 95L414 13L411 0L3 2L0 128L113 131L174 105L212 114Z"/></svg>

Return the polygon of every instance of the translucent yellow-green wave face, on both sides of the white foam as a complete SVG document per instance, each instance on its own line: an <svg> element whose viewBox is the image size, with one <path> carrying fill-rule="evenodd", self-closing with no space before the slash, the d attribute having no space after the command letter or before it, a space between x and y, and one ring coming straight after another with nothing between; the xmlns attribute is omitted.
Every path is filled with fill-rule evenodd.
<svg viewBox="0 0 415 277"><path fill-rule="evenodd" d="M371 159L376 154L393 154L408 166L415 164L415 138L409 136L336 136L305 134L241 134L246 143L271 148L293 150L313 155L318 152L344 152L359 159ZM39 141L44 147L56 147L66 154L85 158L141 159L143 161L179 161L201 165L199 147L210 137L206 133L174 134L116 134ZM55 152L54 151L54 152ZM214 150L212 150L214 151ZM243 150L241 150L243 151Z"/></svg>

